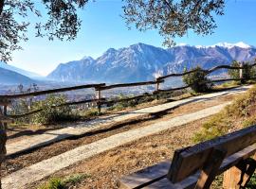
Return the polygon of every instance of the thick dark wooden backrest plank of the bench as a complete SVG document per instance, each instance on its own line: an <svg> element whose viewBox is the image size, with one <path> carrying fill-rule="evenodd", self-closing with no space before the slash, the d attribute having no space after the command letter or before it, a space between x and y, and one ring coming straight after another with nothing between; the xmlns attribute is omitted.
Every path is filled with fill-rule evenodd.
<svg viewBox="0 0 256 189"><path fill-rule="evenodd" d="M192 175L195 171L203 167L213 147L227 150L226 157L228 157L255 142L256 126L251 126L186 148L181 152L175 152L174 160L167 177L173 182L177 182Z"/></svg>

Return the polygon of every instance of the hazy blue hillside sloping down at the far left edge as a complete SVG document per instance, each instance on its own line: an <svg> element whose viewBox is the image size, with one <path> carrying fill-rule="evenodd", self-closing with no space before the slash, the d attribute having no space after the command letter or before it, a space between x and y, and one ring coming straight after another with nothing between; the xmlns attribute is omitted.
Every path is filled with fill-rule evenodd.
<svg viewBox="0 0 256 189"><path fill-rule="evenodd" d="M13 85L13 84L31 84L35 80L18 74L16 72L10 71L8 69L0 68L0 84Z"/></svg>

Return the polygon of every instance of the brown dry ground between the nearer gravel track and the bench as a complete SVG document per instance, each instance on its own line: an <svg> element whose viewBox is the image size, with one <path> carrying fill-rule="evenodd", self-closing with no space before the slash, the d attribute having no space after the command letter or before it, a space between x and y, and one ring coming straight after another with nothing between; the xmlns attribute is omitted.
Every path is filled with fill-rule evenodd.
<svg viewBox="0 0 256 189"><path fill-rule="evenodd" d="M52 175L51 178L65 178L74 174L86 174L89 176L88 178L70 186L70 188L119 188L118 180L122 176L171 159L175 149L192 146L194 132L200 129L202 124L208 120L209 118L198 120L179 129L169 129L127 145L119 146L65 168ZM27 188L37 188L48 179L33 183Z"/></svg>

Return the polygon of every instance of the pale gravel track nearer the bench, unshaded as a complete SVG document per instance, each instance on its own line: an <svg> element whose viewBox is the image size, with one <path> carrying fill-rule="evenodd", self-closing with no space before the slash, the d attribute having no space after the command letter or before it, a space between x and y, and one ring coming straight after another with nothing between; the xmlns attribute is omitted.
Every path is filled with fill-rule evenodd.
<svg viewBox="0 0 256 189"><path fill-rule="evenodd" d="M138 129L131 129L88 145L76 147L72 150L64 152L63 154L44 160L40 163L35 163L10 174L2 179L2 187L3 189L26 188L27 184L42 180L67 166L90 158L103 151L124 145L139 138L149 136L166 129L174 129L192 121L213 115L220 112L229 103L230 102L213 106L198 112L176 116L166 121L161 121Z"/></svg>

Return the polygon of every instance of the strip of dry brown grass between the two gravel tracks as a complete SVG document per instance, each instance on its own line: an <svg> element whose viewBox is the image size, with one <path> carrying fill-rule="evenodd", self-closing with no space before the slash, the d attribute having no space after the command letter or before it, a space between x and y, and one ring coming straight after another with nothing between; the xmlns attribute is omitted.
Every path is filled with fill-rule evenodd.
<svg viewBox="0 0 256 189"><path fill-rule="evenodd" d="M147 116L141 118L141 120L136 120L131 123L119 123L118 125L109 125L106 127L102 127L101 129L91 131L85 134L81 138L77 139L67 139L61 141L59 143L52 144L50 146L41 147L37 150L34 150L30 153L25 153L23 155L19 155L17 157L10 157L8 160L3 163L2 173L3 175L9 175L10 173L17 171L21 168L29 166L33 163L38 163L53 156L64 153L65 151L71 150L77 146L87 145L98 141L102 138L106 138L108 136L117 134L119 132L123 132L130 129L137 129L141 127L145 127L151 124L154 124L159 121L165 121L171 119L177 115L182 115L190 112L196 112L205 108L209 108L211 106L215 106L221 104L222 102L229 101L233 98L234 95L222 96L218 98L213 98L209 101L205 102L197 102L190 103L183 106L180 106L172 111L166 112L166 114L156 115L156 116ZM16 142L15 140L22 140L24 137L22 136L18 138L13 138L12 142Z"/></svg>

